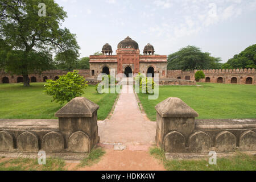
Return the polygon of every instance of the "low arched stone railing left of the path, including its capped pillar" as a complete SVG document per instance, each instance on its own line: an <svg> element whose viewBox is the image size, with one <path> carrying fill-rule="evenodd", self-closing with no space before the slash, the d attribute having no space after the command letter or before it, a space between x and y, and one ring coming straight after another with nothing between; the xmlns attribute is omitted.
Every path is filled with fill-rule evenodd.
<svg viewBox="0 0 256 182"><path fill-rule="evenodd" d="M1 119L0 152L85 154L100 141L99 106L76 97L62 107L56 119Z"/></svg>

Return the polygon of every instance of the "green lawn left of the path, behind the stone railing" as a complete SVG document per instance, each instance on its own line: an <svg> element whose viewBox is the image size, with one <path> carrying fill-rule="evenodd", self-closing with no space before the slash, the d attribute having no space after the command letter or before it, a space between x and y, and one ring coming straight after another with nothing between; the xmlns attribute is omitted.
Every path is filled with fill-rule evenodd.
<svg viewBox="0 0 256 182"><path fill-rule="evenodd" d="M0 118L2 119L54 119L54 113L64 105L51 102L43 92L44 83L32 83L30 88L20 84L0 84ZM88 86L83 97L100 105L98 119L105 119L118 94L98 94L95 86Z"/></svg>

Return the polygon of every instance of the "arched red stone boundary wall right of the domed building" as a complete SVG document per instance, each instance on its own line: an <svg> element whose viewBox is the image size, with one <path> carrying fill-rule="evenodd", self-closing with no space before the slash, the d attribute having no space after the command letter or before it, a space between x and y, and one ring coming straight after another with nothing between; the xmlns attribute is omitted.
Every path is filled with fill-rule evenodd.
<svg viewBox="0 0 256 182"><path fill-rule="evenodd" d="M256 84L255 69L207 69L203 70L205 79L201 82L223 83L223 84ZM168 78L180 78L195 80L194 71L168 70Z"/></svg>

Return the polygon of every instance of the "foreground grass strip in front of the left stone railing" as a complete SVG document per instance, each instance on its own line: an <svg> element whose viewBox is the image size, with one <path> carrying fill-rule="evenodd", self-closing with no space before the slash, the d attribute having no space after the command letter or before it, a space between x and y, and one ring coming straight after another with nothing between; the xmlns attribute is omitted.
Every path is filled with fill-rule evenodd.
<svg viewBox="0 0 256 182"><path fill-rule="evenodd" d="M0 171L64 171L62 159L46 159L46 165L39 165L38 159L17 158L0 162Z"/></svg>

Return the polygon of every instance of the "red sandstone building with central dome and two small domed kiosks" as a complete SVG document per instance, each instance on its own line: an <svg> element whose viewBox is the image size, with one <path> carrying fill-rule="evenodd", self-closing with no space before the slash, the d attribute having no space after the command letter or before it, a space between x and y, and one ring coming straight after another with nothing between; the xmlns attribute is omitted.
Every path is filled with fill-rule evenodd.
<svg viewBox="0 0 256 182"><path fill-rule="evenodd" d="M122 40L118 46L117 54L112 55L112 47L106 43L102 47L100 56L90 56L90 76L97 78L100 73L110 74L110 70L124 73L127 77L129 73L159 73L160 78L167 77L167 56L154 55L155 49L151 44L144 47L143 55L140 55L139 45L129 36Z"/></svg>

